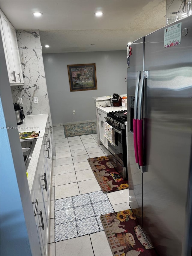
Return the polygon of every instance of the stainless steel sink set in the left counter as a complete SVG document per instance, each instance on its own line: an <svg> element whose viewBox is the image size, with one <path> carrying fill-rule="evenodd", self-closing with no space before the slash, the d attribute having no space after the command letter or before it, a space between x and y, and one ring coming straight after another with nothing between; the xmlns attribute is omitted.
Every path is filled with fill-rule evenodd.
<svg viewBox="0 0 192 256"><path fill-rule="evenodd" d="M26 170L29 166L29 162L31 160L31 156L35 148L36 142L37 142L37 139L20 140Z"/></svg>

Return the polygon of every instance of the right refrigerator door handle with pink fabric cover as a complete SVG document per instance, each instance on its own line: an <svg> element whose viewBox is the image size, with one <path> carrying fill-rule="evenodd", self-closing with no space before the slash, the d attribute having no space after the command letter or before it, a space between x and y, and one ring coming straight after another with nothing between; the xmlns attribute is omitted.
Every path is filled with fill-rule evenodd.
<svg viewBox="0 0 192 256"><path fill-rule="evenodd" d="M141 107L142 107L142 98L143 98L143 86L144 79L148 78L149 72L141 72L141 80L139 85L139 100L138 100L138 116L137 116L137 147L139 155L139 165L144 166L143 164L143 119L141 119Z"/></svg>

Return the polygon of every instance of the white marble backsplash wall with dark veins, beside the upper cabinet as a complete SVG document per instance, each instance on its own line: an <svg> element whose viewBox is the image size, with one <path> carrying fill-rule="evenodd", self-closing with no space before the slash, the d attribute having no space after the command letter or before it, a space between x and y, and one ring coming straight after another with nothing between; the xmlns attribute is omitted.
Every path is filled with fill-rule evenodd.
<svg viewBox="0 0 192 256"><path fill-rule="evenodd" d="M24 85L11 86L13 102L22 98L25 115L50 113L41 41L38 30L17 30ZM34 103L33 97L38 97Z"/></svg>

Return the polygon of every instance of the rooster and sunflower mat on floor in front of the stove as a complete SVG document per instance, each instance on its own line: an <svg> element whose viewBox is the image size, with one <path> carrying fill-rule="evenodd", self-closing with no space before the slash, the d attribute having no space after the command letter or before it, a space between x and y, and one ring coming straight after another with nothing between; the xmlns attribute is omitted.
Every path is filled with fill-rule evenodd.
<svg viewBox="0 0 192 256"><path fill-rule="evenodd" d="M122 178L115 169L115 163L112 163L108 156L88 158L87 160L104 193L129 188L128 180Z"/></svg>

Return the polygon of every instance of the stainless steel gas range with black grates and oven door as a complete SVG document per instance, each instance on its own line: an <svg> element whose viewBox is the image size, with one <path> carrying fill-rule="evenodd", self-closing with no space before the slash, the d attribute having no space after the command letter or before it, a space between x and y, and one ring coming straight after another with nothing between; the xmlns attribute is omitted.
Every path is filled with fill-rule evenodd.
<svg viewBox="0 0 192 256"><path fill-rule="evenodd" d="M110 161L124 179L128 179L126 126L127 110L112 111L107 114L106 122L113 127L114 142L108 140Z"/></svg>

